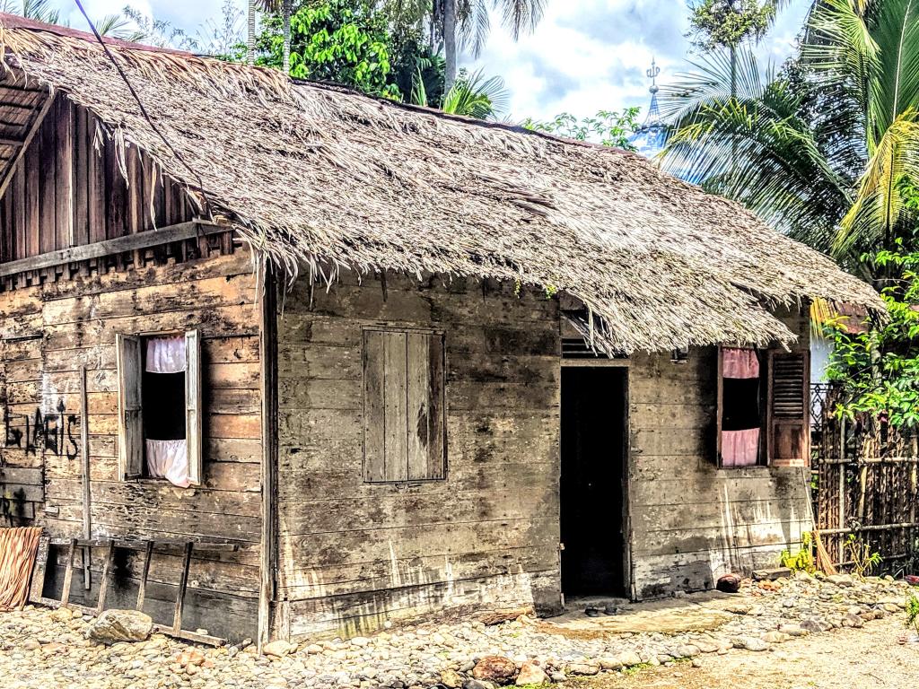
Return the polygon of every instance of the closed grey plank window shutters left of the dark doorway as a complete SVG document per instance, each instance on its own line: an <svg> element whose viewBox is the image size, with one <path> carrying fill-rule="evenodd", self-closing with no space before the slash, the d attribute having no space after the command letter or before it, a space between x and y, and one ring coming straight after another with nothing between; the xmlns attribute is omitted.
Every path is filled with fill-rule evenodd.
<svg viewBox="0 0 919 689"><path fill-rule="evenodd" d="M364 480L443 479L444 336L364 331Z"/></svg>

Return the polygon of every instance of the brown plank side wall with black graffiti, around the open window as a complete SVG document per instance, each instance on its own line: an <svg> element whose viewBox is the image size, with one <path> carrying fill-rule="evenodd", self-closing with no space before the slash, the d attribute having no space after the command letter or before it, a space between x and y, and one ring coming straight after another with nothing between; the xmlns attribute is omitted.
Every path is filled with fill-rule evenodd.
<svg viewBox="0 0 919 689"><path fill-rule="evenodd" d="M249 255L90 272L0 293L0 464L42 469L44 503L34 523L52 537L82 537L80 424L88 423L93 537L229 538L238 552L194 559L187 623L212 634L252 636L261 527L260 362L255 277ZM204 481L177 489L117 473L115 333L198 328L203 338ZM24 339L23 339L24 338ZM88 409L79 368L87 368ZM103 553L94 553L94 589ZM176 553L177 555L177 553ZM154 560L148 607L171 622L170 582L180 559ZM136 591L139 563L119 560L121 591ZM83 593L74 582L73 600ZM215 602L215 598L217 599ZM210 612L210 615L208 614ZM191 628L195 628L195 627Z"/></svg>

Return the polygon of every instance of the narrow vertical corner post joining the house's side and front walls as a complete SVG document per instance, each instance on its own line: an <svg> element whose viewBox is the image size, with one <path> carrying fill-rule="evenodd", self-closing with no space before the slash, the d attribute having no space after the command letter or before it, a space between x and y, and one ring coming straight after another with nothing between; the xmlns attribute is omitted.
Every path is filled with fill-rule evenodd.
<svg viewBox="0 0 919 689"><path fill-rule="evenodd" d="M278 295L271 262L265 260L264 265L263 285L258 300L261 321L259 359L262 364L262 549L259 560L256 641L259 653L269 641L271 634L271 604L275 595L278 535Z"/></svg>

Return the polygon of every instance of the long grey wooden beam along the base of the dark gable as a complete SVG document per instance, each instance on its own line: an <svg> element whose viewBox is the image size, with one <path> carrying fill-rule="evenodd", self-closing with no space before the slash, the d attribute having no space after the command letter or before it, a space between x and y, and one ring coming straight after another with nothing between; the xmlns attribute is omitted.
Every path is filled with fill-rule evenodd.
<svg viewBox="0 0 919 689"><path fill-rule="evenodd" d="M146 249L151 246L191 239L199 235L231 232L231 230L232 228L226 225L213 225L197 221L180 222L177 225L164 227L161 230L128 234L124 237L116 237L101 242L85 244L84 246L74 246L69 249L61 249L59 251L51 251L47 254L39 254L29 258L20 258L17 261L9 261L8 263L0 265L0 277L16 275L17 273L24 273L30 270L39 270L40 268L48 268L52 265L63 265L76 261L85 261L91 258L102 258L103 256L121 254L134 251L135 249Z"/></svg>

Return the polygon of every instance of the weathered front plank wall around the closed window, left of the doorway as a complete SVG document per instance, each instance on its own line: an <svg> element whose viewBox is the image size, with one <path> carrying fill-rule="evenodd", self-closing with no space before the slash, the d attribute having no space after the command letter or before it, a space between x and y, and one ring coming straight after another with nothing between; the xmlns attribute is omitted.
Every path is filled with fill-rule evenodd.
<svg viewBox="0 0 919 689"><path fill-rule="evenodd" d="M312 307L311 307L312 299ZM559 314L514 286L301 278L278 317L281 636L559 604ZM445 333L447 478L365 483L363 326Z"/></svg>

